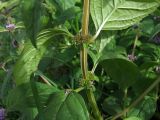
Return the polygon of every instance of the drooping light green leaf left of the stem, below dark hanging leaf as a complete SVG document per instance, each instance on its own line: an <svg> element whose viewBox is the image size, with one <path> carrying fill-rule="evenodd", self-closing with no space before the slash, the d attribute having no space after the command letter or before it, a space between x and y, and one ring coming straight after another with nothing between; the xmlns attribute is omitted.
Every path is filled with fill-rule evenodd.
<svg viewBox="0 0 160 120"><path fill-rule="evenodd" d="M46 51L45 46L34 48L30 42L25 44L23 52L14 66L14 78L17 85L27 83L30 75L37 70L40 59Z"/></svg>

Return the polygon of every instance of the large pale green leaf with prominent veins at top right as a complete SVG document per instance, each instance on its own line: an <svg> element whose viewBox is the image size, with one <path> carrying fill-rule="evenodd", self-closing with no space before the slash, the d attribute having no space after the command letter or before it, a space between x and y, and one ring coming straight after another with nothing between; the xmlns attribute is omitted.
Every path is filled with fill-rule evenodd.
<svg viewBox="0 0 160 120"><path fill-rule="evenodd" d="M157 9L155 0L91 0L91 16L97 33L121 30L142 20Z"/></svg>

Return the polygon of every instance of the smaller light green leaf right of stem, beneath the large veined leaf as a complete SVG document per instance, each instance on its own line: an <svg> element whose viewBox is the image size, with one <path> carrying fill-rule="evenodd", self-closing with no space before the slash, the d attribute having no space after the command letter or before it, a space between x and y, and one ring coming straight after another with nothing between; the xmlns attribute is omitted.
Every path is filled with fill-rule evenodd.
<svg viewBox="0 0 160 120"><path fill-rule="evenodd" d="M95 51L88 51L94 66L104 59L126 59L127 56L125 48L116 45L115 32L113 31L102 32L96 40L95 49Z"/></svg>

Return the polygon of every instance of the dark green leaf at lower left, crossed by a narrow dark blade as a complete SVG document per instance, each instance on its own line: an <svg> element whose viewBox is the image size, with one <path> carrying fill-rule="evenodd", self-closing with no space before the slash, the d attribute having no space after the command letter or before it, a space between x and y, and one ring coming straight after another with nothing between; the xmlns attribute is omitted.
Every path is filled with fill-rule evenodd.
<svg viewBox="0 0 160 120"><path fill-rule="evenodd" d="M46 104L51 94L59 91L53 86L48 86L42 83L36 83L36 86L41 105ZM30 83L25 83L12 89L7 96L6 104L8 110L20 110L22 112L22 108L35 107L36 105Z"/></svg>

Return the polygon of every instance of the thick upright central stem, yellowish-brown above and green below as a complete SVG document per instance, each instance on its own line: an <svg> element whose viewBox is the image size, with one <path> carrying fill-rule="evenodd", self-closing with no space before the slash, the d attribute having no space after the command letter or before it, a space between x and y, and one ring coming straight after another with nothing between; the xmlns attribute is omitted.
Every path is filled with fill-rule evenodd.
<svg viewBox="0 0 160 120"><path fill-rule="evenodd" d="M84 0L83 5L83 18L82 18L82 37L88 36L88 24L89 24L89 0ZM81 61L81 69L83 74L83 80L87 80L87 72L88 72L88 65L87 65L87 44L82 43L81 50L80 50L80 61ZM88 86L88 88L90 85ZM87 89L87 97L89 103L93 110L93 115L96 120L102 120L101 114L99 112L93 90L91 88Z"/></svg>

